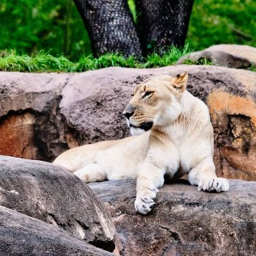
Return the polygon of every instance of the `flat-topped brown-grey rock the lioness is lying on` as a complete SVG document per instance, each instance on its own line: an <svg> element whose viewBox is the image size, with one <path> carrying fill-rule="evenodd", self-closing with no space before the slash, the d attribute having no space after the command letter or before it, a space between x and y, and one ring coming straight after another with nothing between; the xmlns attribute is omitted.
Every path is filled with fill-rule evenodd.
<svg viewBox="0 0 256 256"><path fill-rule="evenodd" d="M90 188L111 211L120 255L256 255L256 182L229 182L225 193L165 184L148 216L134 210L134 180Z"/></svg>

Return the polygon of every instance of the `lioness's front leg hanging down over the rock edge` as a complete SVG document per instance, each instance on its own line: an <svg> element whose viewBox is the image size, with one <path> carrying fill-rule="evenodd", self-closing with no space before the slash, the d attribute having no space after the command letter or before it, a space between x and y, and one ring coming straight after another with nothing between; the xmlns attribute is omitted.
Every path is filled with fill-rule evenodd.
<svg viewBox="0 0 256 256"><path fill-rule="evenodd" d="M161 188L164 184L164 171L154 163L147 161L142 164L137 179L137 195L135 200L135 209L142 214L151 211L155 204L157 188Z"/></svg>

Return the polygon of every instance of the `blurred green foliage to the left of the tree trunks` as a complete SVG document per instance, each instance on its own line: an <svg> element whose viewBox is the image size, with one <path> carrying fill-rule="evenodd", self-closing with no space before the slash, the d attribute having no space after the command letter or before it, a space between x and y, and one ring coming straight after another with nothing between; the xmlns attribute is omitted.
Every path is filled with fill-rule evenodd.
<svg viewBox="0 0 256 256"><path fill-rule="evenodd" d="M0 0L0 49L77 58L90 54L90 40L72 0Z"/></svg>

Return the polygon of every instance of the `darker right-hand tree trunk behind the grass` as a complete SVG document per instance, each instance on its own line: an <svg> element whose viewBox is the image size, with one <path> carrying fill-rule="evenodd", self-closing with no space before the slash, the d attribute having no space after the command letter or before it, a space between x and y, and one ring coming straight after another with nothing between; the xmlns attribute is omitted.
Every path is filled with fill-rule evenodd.
<svg viewBox="0 0 256 256"><path fill-rule="evenodd" d="M143 54L154 47L184 47L194 0L136 0Z"/></svg>

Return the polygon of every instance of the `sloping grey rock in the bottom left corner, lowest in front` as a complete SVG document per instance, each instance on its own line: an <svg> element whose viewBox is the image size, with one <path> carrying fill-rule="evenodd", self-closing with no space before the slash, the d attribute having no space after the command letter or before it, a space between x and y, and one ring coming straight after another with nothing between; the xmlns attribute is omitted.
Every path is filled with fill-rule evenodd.
<svg viewBox="0 0 256 256"><path fill-rule="evenodd" d="M0 255L2 256L111 256L68 232L43 221L0 206Z"/></svg>

